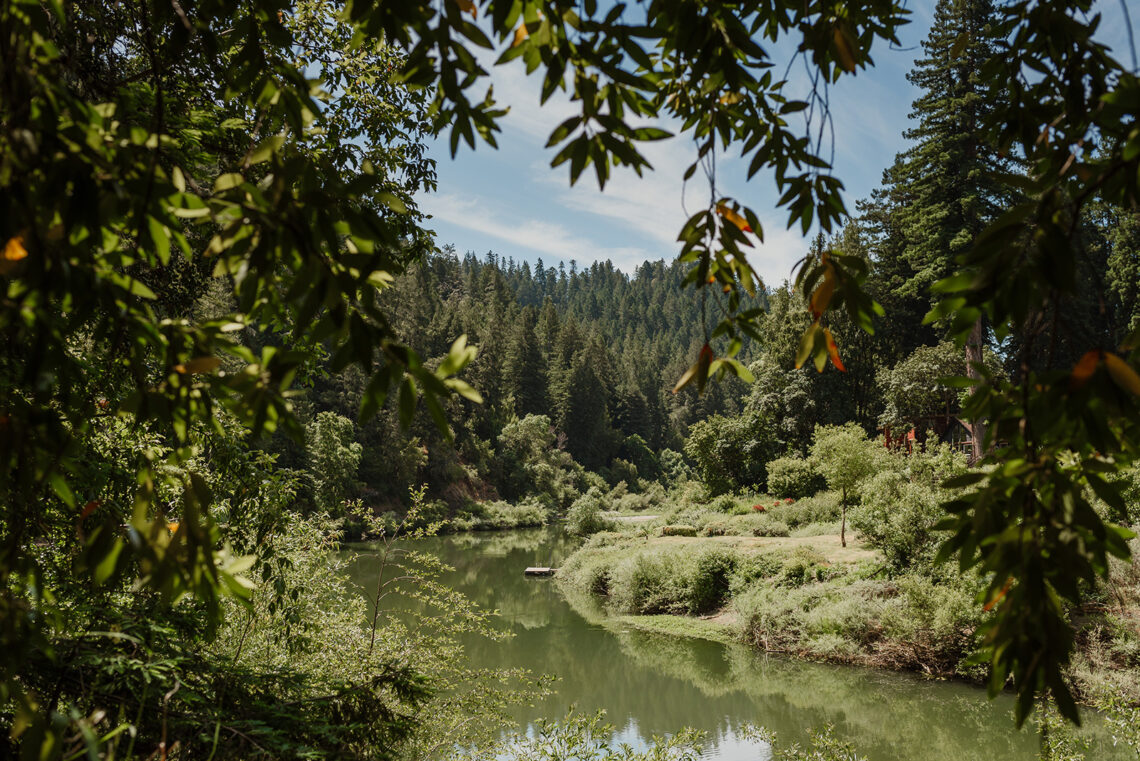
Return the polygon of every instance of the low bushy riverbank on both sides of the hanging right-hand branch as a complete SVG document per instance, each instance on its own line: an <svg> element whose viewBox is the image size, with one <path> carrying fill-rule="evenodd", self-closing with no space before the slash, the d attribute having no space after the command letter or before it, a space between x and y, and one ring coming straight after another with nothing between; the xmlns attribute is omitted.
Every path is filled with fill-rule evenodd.
<svg viewBox="0 0 1140 761"><path fill-rule="evenodd" d="M795 532L809 535L767 537L723 534L765 533L775 515L690 513L685 521L685 533L705 535L667 535L677 524L666 517L595 534L563 563L557 583L593 596L629 629L816 662L984 679L970 658L987 613L971 576L946 566L888 573L880 551L850 535L842 547L826 523ZM1134 604L1138 578L1134 566L1116 568L1114 594ZM1086 699L1110 690L1140 701L1140 637L1127 604L1075 616L1072 676Z"/></svg>

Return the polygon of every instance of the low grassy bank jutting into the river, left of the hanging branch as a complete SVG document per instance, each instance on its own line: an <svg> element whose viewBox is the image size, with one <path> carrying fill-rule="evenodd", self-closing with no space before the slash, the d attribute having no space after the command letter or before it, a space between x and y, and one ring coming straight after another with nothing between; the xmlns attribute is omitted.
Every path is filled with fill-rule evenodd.
<svg viewBox="0 0 1140 761"><path fill-rule="evenodd" d="M838 535L593 538L559 583L605 598L630 625L746 641L822 661L968 673L974 590L913 574ZM678 619L677 616L690 616Z"/></svg>

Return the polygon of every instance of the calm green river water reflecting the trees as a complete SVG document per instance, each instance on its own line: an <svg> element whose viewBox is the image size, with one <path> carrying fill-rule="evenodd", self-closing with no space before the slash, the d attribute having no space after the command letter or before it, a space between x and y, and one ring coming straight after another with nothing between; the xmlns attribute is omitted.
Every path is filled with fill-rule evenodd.
<svg viewBox="0 0 1140 761"><path fill-rule="evenodd" d="M556 530L478 533L421 540L454 572L443 581L480 606L498 609L505 641L472 638L477 666L526 668L556 676L555 694L519 706L521 728L557 719L575 705L604 709L614 740L643 745L679 727L707 733L703 758L764 761L771 748L738 737L741 725L764 726L781 744L809 728L833 725L870 761L990 761L1036 758L1039 742L1012 726L1012 701L987 701L984 690L912 674L805 663L764 656L743 646L624 630L596 603L569 603L552 579L523 576L531 565L557 566L575 543ZM374 548L356 546L350 576L375 587ZM1090 758L1113 759L1096 717Z"/></svg>

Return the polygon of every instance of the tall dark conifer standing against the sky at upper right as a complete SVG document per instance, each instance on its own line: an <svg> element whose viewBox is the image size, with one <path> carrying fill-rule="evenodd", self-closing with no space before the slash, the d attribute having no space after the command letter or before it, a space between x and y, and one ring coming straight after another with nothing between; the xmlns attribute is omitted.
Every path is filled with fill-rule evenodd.
<svg viewBox="0 0 1140 761"><path fill-rule="evenodd" d="M925 57L906 79L922 89L912 104L918 124L904 133L914 145L895 158L883 175L872 211L889 236L878 252L881 297L898 325L918 325L935 298L930 286L947 277L958 256L1012 199L996 172L1009 162L983 139L982 125L993 109L983 92L980 71L994 55L992 0L939 0ZM886 228L886 229L883 229ZM930 343L933 335L913 328L896 336L899 354ZM982 362L985 326L979 318L966 345L968 373ZM971 424L975 456L984 429Z"/></svg>

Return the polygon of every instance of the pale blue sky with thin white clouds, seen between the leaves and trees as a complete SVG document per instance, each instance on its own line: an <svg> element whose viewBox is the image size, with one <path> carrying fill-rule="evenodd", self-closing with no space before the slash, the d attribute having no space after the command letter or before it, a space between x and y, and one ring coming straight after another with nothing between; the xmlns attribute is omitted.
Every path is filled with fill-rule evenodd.
<svg viewBox="0 0 1140 761"><path fill-rule="evenodd" d="M1100 6L1106 16L1105 41L1122 51L1122 60L1129 60L1119 0ZM933 8L933 0L912 3L911 23L899 32L902 44L878 48L873 68L841 77L831 90L834 173L846 186L848 211L854 212L855 201L878 186L882 170L906 147L902 133L917 96L906 72L922 55L920 42L929 30ZM780 51L774 56L779 60ZM429 227L435 230L439 245L454 244L461 254L495 251L531 264L542 259L547 267L559 261L577 260L583 267L610 260L626 272L646 260L671 260L679 251L677 232L687 218L682 178L695 156L693 144L685 138L646 144L644 153L654 171L638 178L619 169L604 193L598 191L592 171L570 187L567 165L551 169L553 150L544 146L551 130L575 113L573 106L557 97L539 106L538 77L527 77L522 66L495 67L491 74L496 100L511 106L502 121L498 150L483 144L477 144L475 150L462 145L451 159L446 136L431 148L438 161L439 191L425 194L420 203L432 215ZM748 182L746 166L735 156L718 159L718 185L722 195L738 198L760 216L764 243L750 261L765 283L775 286L790 277L806 240L798 226L787 229L785 213L775 208L777 195L771 179L762 173ZM700 172L690 180L685 196L690 213L708 197Z"/></svg>

